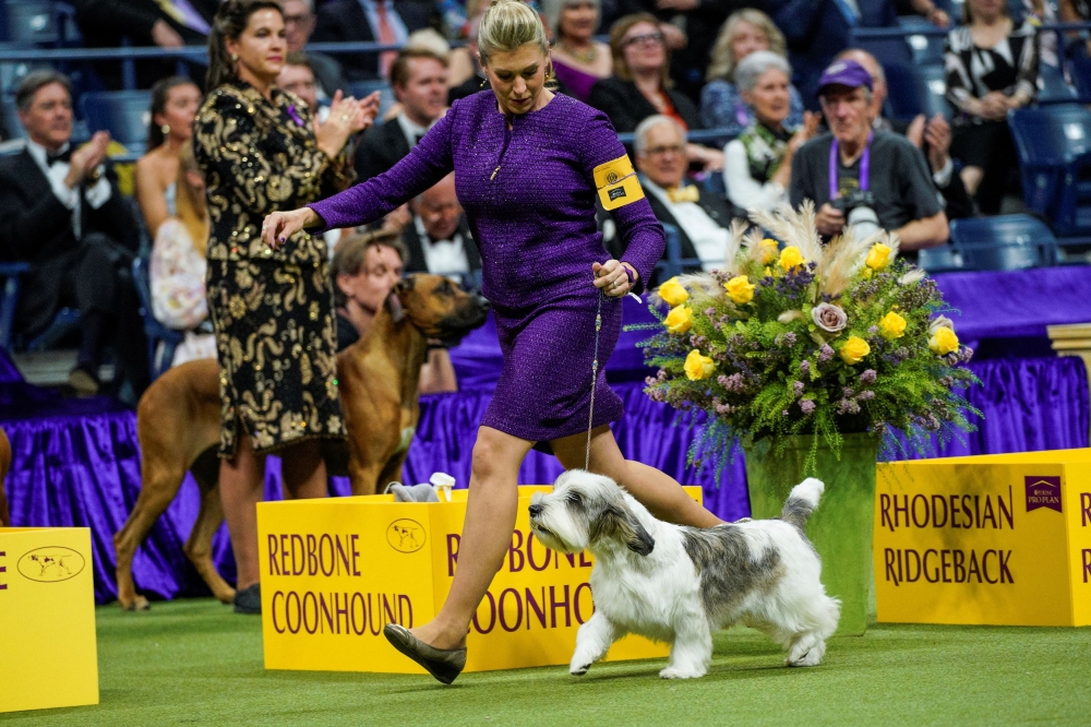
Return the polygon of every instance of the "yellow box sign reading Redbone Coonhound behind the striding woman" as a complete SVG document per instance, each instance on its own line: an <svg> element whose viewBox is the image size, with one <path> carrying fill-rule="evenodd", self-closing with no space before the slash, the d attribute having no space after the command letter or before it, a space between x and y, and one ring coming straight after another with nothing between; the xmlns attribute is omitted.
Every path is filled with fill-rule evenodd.
<svg viewBox="0 0 1091 727"><path fill-rule="evenodd" d="M527 508L543 487L520 487L512 545L470 624L467 671L567 664L595 610L586 553L535 538ZM699 501L700 488L686 490ZM391 622L432 619L458 565L466 490L453 502L393 496L257 505L265 668L423 674L382 635ZM611 659L662 657L628 636Z"/></svg>

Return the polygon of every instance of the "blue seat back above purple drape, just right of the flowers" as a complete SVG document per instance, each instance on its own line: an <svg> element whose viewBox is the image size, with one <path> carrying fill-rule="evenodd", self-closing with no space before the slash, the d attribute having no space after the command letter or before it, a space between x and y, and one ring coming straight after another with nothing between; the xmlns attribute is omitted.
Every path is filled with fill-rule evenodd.
<svg viewBox="0 0 1091 727"><path fill-rule="evenodd" d="M955 219L951 243L966 270L1050 265L1057 249L1057 240L1045 223L1030 215Z"/></svg>

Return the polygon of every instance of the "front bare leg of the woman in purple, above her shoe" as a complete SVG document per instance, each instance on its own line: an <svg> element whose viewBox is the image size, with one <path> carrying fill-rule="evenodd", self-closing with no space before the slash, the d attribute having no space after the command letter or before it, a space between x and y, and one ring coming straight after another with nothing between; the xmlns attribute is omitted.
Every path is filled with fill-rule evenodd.
<svg viewBox="0 0 1091 727"><path fill-rule="evenodd" d="M532 444L491 427L478 429L455 580L436 617L412 629L425 644L436 648L466 645L470 619L512 545L519 466Z"/></svg>

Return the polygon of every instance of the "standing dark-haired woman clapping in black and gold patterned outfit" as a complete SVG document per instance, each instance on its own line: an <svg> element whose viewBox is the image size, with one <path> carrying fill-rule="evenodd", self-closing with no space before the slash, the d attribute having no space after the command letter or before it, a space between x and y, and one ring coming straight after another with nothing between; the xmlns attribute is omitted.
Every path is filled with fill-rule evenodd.
<svg viewBox="0 0 1091 727"><path fill-rule="evenodd" d="M260 612L257 513L264 455L284 457L285 491L325 497L321 438L343 438L325 242L299 235L273 251L261 225L344 189L345 144L377 94L334 98L316 130L307 104L275 87L288 49L276 0L227 0L208 37L208 96L194 127L206 180L208 309L220 368L219 487L238 565L235 607Z"/></svg>

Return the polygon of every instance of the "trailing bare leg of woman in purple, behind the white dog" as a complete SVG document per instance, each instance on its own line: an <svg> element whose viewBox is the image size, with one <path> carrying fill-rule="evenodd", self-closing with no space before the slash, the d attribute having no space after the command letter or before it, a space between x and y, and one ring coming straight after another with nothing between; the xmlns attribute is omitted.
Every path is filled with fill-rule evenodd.
<svg viewBox="0 0 1091 727"><path fill-rule="evenodd" d="M587 434L573 434L552 442L553 453L565 469L583 469L587 451ZM591 432L590 470L619 482L640 501L652 515L669 523L711 527L719 517L702 508L686 494L674 478L655 467L626 460L618 441L603 425Z"/></svg>

